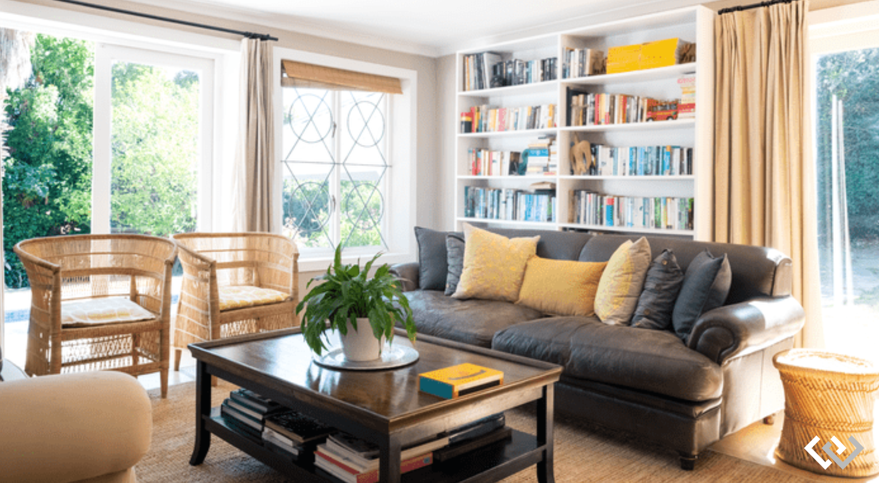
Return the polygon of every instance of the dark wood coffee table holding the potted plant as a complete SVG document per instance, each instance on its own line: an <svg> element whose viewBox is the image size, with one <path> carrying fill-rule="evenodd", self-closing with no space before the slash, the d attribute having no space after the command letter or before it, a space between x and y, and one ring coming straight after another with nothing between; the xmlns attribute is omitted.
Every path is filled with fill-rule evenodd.
<svg viewBox="0 0 879 483"><path fill-rule="evenodd" d="M409 343L398 333L395 343ZM378 444L381 483L489 482L536 465L553 483L553 386L562 373L543 363L494 350L418 335L418 362L389 371L333 371L311 360L298 328L190 344L197 360L195 448L200 465L213 433L297 482L338 481L310 462L291 462L211 415L211 376L263 394L331 426ZM504 385L444 400L418 392L418 374L469 362L504 371ZM536 401L537 434L512 438L440 464L400 475L408 443Z"/></svg>

